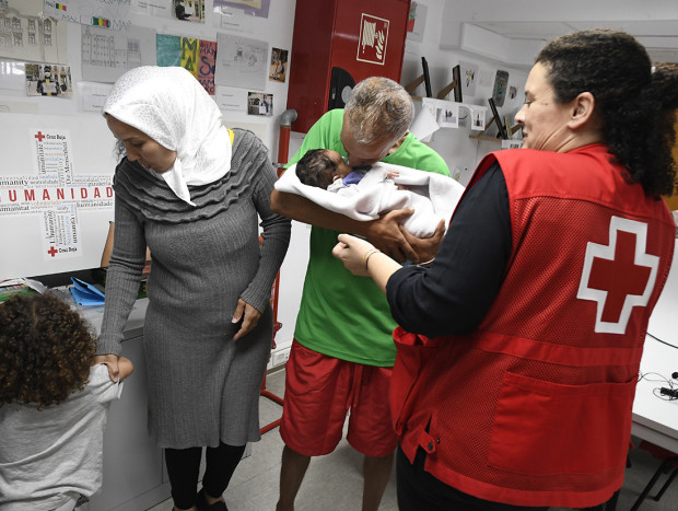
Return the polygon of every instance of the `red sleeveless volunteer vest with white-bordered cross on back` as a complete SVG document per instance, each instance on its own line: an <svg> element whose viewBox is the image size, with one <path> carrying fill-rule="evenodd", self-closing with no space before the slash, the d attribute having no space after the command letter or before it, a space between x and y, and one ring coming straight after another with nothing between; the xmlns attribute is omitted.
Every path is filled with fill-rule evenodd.
<svg viewBox="0 0 678 511"><path fill-rule="evenodd" d="M650 314L675 225L604 146L489 154L508 190L512 254L479 328L394 332L394 423L413 461L481 499L583 508L623 481ZM463 268L460 269L463 271Z"/></svg>

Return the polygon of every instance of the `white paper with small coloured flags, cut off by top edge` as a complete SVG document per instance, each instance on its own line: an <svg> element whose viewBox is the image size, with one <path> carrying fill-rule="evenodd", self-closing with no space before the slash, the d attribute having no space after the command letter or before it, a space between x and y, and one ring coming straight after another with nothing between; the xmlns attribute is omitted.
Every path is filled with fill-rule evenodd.
<svg viewBox="0 0 678 511"><path fill-rule="evenodd" d="M125 31L132 24L130 0L45 0L45 15L58 20L101 26L112 31Z"/></svg>

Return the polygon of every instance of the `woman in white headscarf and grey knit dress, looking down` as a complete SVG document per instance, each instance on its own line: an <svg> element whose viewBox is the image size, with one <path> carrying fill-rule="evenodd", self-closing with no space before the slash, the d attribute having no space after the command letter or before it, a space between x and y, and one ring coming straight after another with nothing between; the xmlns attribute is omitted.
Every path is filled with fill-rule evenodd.
<svg viewBox="0 0 678 511"><path fill-rule="evenodd" d="M117 379L148 245L149 432L165 449L175 508L224 510L245 445L260 438L270 292L290 239L290 221L269 208L276 172L261 141L227 130L183 68L128 71L103 113L124 158L97 361Z"/></svg>

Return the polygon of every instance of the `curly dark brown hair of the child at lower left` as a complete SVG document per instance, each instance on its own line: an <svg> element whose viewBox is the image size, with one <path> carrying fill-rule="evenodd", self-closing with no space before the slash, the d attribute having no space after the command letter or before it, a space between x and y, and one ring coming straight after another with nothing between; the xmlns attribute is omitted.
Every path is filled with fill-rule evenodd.
<svg viewBox="0 0 678 511"><path fill-rule="evenodd" d="M0 407L58 405L87 383L96 337L56 295L12 297L0 304Z"/></svg>

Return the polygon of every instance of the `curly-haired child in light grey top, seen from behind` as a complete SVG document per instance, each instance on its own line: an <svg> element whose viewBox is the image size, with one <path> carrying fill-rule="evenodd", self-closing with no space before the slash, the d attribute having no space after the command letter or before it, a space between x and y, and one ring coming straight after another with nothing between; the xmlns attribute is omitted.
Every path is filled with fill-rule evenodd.
<svg viewBox="0 0 678 511"><path fill-rule="evenodd" d="M92 365L96 337L51 294L0 304L0 509L70 510L102 486L104 428L122 382ZM120 380L132 372L120 358Z"/></svg>

